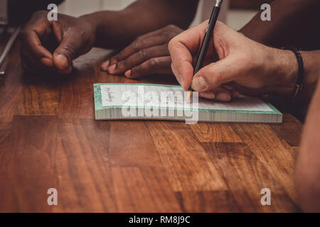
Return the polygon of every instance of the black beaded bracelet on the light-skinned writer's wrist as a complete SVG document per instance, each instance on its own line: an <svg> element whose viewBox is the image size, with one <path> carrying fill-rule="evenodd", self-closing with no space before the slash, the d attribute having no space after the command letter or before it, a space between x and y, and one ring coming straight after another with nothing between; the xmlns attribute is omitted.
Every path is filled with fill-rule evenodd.
<svg viewBox="0 0 320 227"><path fill-rule="evenodd" d="M292 52L294 52L294 55L296 55L298 60L298 79L297 79L297 85L296 85L296 89L294 90L293 99L292 99L292 102L295 102L297 101L297 98L300 96L303 88L304 61L302 60L302 55L301 55L301 52L298 50L298 48L287 47L287 48L282 48L282 50L292 50Z"/></svg>

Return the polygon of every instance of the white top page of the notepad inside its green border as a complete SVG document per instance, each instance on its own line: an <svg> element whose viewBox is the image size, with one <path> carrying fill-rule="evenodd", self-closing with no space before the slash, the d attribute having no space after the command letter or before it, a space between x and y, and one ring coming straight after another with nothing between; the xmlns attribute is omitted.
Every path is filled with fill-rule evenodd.
<svg viewBox="0 0 320 227"><path fill-rule="evenodd" d="M146 86L132 84L101 85L102 106L169 107L186 106L186 93L181 87ZM225 111L271 111L264 101L257 97L240 96L229 103L199 99L198 109Z"/></svg>

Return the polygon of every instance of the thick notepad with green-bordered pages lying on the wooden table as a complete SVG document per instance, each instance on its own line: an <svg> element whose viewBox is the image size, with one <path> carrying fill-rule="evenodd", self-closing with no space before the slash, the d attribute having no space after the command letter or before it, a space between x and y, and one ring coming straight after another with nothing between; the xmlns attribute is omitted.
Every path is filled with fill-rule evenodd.
<svg viewBox="0 0 320 227"><path fill-rule="evenodd" d="M161 84L94 84L94 94L96 120L282 123L272 104L253 96L224 103L193 95L188 101L182 87Z"/></svg>

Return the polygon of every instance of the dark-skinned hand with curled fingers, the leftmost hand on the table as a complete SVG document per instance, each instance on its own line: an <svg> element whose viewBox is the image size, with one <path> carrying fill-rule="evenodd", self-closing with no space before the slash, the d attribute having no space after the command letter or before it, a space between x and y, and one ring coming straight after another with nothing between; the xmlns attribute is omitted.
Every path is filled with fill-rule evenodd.
<svg viewBox="0 0 320 227"><path fill-rule="evenodd" d="M58 14L48 21L48 11L33 14L21 33L21 62L28 72L69 74L73 60L91 50L95 29L82 18Z"/></svg>

